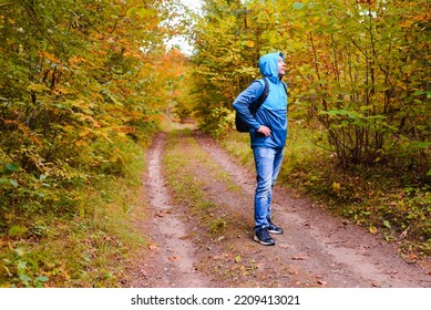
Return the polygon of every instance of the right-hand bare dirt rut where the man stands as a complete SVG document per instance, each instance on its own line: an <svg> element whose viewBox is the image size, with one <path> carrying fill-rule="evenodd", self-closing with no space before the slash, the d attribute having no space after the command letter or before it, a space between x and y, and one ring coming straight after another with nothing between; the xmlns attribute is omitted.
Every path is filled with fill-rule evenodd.
<svg viewBox="0 0 431 310"><path fill-rule="evenodd" d="M218 204L237 213L242 217L239 220L249 223L253 217L254 173L235 164L232 156L209 137L196 134L195 138L242 188L242 193L235 195L220 188L212 190L212 186L207 190L212 192ZM278 280L278 285L431 287L430 275L418 265L404 262L396 245L380 240L341 218L327 215L310 199L293 198L279 186L276 186L274 200L275 221L285 228L285 234L275 237L276 247L252 246L248 255L254 255L257 261L269 266L269 270L278 272L279 277L283 277L283 269L300 275L290 277L290 282ZM252 235L248 237L248 240L240 242L253 242ZM296 282L291 283L291 280Z"/></svg>

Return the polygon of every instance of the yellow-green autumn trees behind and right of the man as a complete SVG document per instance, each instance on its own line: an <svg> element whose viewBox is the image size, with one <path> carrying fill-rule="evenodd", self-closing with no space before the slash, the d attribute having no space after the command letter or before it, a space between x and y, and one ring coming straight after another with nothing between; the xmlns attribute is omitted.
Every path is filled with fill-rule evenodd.
<svg viewBox="0 0 431 310"><path fill-rule="evenodd" d="M229 117L259 55L279 50L290 110L324 126L345 168L402 158L430 174L428 1L204 3L195 58L204 128Z"/></svg>

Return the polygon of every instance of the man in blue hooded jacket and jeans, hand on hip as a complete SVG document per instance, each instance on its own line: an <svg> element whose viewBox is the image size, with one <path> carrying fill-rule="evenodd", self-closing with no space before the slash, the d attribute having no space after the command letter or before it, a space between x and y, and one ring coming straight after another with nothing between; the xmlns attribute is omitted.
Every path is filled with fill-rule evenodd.
<svg viewBox="0 0 431 310"><path fill-rule="evenodd" d="M264 81L257 80L236 97L234 108L250 127L250 145L257 175L254 240L265 246L274 246L275 240L269 234L283 234L283 228L271 221L270 203L287 136L287 94L286 84L281 81L286 73L284 54L269 53L261 56L259 71L269 84L266 101L255 115L248 110L265 89Z"/></svg>

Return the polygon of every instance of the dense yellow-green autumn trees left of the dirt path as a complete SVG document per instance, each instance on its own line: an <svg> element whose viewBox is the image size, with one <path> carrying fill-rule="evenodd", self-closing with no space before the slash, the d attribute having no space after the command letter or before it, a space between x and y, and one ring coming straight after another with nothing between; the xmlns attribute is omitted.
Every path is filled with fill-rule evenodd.
<svg viewBox="0 0 431 310"><path fill-rule="evenodd" d="M165 105L152 73L175 8L163 0L1 0L2 223L29 206L74 213L84 200L74 188L96 173L121 174L119 145L150 138L142 128L154 127Z"/></svg>

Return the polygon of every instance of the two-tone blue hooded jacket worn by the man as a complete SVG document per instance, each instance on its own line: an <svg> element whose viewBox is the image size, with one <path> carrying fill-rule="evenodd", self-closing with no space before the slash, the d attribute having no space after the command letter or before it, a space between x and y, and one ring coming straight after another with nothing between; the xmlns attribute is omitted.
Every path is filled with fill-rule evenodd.
<svg viewBox="0 0 431 310"><path fill-rule="evenodd" d="M250 127L252 147L283 148L287 136L287 94L284 82L278 78L279 53L269 53L259 59L259 71L267 78L269 95L253 116L248 106L264 92L261 80L253 82L234 101L234 108ZM260 125L271 130L270 136L257 132Z"/></svg>

